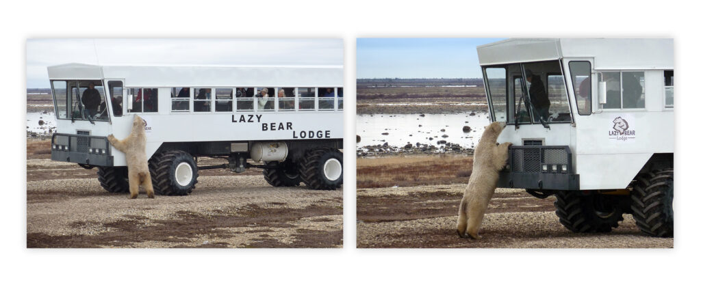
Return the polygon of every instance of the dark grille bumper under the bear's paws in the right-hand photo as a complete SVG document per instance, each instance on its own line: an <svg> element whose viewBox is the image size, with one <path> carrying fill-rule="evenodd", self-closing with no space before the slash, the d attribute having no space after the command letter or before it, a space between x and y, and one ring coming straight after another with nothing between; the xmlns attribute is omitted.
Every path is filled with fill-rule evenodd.
<svg viewBox="0 0 701 287"><path fill-rule="evenodd" d="M573 172L569 146L510 146L497 187L579 190L579 174Z"/></svg>

